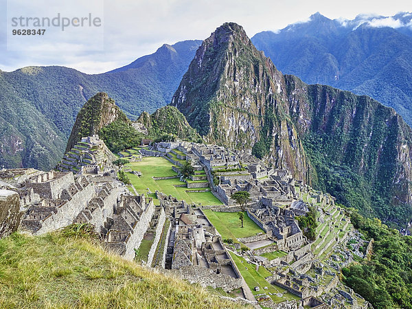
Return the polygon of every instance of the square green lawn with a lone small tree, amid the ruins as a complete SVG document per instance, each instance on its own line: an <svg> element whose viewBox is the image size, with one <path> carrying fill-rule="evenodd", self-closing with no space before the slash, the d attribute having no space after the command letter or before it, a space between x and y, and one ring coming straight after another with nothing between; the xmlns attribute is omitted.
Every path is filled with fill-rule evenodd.
<svg viewBox="0 0 412 309"><path fill-rule="evenodd" d="M218 212L204 209L211 224L216 227L222 238L243 238L264 232L255 222L244 213L243 228L237 212Z"/></svg>

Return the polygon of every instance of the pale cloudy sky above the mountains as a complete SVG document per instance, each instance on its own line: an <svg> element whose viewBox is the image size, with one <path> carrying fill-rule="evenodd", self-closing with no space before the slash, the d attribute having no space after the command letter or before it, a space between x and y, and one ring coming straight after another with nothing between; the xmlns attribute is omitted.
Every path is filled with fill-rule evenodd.
<svg viewBox="0 0 412 309"><path fill-rule="evenodd" d="M27 65L65 65L101 73L151 54L163 43L204 39L225 21L251 37L279 30L321 12L330 19L358 14L391 16L411 11L408 1L331 0L0 0L0 69ZM99 27L47 27L43 36L13 36L12 18L102 19ZM89 15L91 14L91 15ZM32 21L30 21L32 22ZM60 23L62 20L60 19ZM77 26L77 21L75 21ZM33 25L33 24L32 24ZM36 28L38 29L38 28Z"/></svg>

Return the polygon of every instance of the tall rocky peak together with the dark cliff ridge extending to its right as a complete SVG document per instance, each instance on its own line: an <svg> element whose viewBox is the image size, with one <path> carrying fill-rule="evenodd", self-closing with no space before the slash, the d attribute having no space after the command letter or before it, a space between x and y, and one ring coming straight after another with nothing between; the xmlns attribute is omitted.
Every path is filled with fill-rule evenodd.
<svg viewBox="0 0 412 309"><path fill-rule="evenodd" d="M207 141L289 168L339 203L404 227L412 218L412 133L367 96L284 76L242 27L196 52L172 99Z"/></svg>

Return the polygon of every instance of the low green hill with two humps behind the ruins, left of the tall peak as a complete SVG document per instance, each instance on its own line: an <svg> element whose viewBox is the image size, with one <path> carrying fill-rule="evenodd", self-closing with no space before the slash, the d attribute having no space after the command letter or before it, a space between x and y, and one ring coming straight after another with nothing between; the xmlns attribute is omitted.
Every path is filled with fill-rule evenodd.
<svg viewBox="0 0 412 309"><path fill-rule="evenodd" d="M66 151L69 152L82 137L99 135L114 153L141 144L141 139L170 139L179 137L187 141L201 141L201 136L187 123L185 116L173 106L163 106L150 115L141 113L131 122L125 113L108 98L98 93L80 109L73 125Z"/></svg>

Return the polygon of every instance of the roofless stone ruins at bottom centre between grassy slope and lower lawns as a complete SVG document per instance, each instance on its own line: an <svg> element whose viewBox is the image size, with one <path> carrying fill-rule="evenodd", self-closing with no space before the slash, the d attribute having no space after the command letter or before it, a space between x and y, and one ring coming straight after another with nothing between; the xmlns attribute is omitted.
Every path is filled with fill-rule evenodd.
<svg viewBox="0 0 412 309"><path fill-rule="evenodd" d="M203 286L223 288L227 292L241 289L243 298L253 299L221 236L202 209L160 192L157 197L172 224L165 268Z"/></svg>

